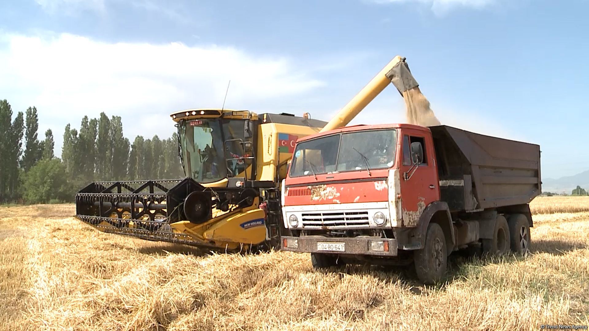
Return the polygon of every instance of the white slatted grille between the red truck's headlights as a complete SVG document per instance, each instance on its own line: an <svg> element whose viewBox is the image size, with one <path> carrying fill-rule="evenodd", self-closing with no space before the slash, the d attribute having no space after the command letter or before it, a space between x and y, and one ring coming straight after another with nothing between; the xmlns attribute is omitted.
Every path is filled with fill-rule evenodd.
<svg viewBox="0 0 589 331"><path fill-rule="evenodd" d="M330 211L328 213L302 214L303 227L366 227L369 226L368 211Z"/></svg>

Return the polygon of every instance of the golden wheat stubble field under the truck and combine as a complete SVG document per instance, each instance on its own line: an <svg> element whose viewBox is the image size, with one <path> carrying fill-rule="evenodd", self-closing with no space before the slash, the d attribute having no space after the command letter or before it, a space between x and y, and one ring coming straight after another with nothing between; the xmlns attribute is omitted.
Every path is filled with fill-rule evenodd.
<svg viewBox="0 0 589 331"><path fill-rule="evenodd" d="M443 286L315 272L307 254L206 254L100 233L69 204L0 207L2 330L538 330L588 325L589 197L532 201L528 257L456 256Z"/></svg>

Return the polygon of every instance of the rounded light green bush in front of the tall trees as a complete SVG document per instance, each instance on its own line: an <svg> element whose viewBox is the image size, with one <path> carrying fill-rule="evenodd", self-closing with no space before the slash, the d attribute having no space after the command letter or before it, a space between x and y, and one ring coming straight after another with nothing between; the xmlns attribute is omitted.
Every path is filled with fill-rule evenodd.
<svg viewBox="0 0 589 331"><path fill-rule="evenodd" d="M44 158L24 176L22 183L27 203L72 201L72 188L64 164L58 158Z"/></svg>

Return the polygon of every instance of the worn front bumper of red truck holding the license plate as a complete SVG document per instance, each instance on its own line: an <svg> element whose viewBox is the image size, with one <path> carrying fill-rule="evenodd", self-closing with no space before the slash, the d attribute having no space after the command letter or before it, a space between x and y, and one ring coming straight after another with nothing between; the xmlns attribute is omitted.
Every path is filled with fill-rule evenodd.
<svg viewBox="0 0 589 331"><path fill-rule="evenodd" d="M397 256L398 243L396 239L370 238L370 237L353 237L353 238L333 238L324 236L282 236L282 250L296 251L299 253L328 253L328 254L359 254L375 256ZM284 245L284 240L297 240L298 247L290 248ZM386 241L388 251L370 250L370 241ZM325 251L317 250L317 243L345 243L345 251Z"/></svg>

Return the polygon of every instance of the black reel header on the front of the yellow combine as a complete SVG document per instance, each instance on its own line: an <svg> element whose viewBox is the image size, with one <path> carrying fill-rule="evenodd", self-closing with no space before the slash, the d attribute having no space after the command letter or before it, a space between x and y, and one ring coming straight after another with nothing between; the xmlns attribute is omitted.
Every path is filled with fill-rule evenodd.
<svg viewBox="0 0 589 331"><path fill-rule="evenodd" d="M210 200L210 192L204 190L206 188L192 178L92 183L76 195L77 217L104 232L194 244L187 234L174 233L170 223L198 220L196 209L185 211L181 207L187 206L184 200L190 193L193 193L191 200L199 195L208 196Z"/></svg>

